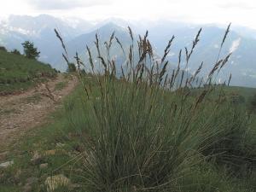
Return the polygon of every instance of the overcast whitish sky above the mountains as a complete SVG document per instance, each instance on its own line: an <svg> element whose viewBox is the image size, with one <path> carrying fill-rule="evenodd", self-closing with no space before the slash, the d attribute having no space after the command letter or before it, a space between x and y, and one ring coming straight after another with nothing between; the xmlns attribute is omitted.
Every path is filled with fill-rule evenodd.
<svg viewBox="0 0 256 192"><path fill-rule="evenodd" d="M0 0L1 2L3 0ZM84 20L178 20L256 29L256 0L4 0L0 17L49 14Z"/></svg>

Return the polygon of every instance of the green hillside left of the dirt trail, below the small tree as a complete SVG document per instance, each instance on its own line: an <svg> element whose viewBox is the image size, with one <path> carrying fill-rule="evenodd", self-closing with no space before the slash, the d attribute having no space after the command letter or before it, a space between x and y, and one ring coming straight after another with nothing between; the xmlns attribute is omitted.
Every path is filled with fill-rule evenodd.
<svg viewBox="0 0 256 192"><path fill-rule="evenodd" d="M26 90L55 75L49 65L0 50L0 95Z"/></svg>

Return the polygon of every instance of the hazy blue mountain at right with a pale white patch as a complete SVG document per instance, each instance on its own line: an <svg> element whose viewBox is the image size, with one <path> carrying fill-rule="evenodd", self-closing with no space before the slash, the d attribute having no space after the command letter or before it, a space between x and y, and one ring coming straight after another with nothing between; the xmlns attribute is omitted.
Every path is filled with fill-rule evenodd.
<svg viewBox="0 0 256 192"><path fill-rule="evenodd" d="M168 29L168 26L164 28L156 27L149 31L149 38L160 54L163 53L166 46L163 43L167 42L172 35L175 35L176 38L173 41L172 52L168 55L168 59L177 63L179 50L184 47L191 47L192 40L195 38L199 29L199 26L171 27L170 29ZM197 69L201 61L205 63L202 72L204 74L209 73L217 60L224 32L225 30L223 28L218 28L217 26L203 26L201 41L196 46L194 55L192 55L189 63L190 73L193 73ZM245 38L237 32L231 31L226 38L221 56L228 55L230 52L233 52L233 54L230 57L230 62L221 71L219 79L227 79L230 73L232 73L232 84L256 87L255 50L256 39Z"/></svg>

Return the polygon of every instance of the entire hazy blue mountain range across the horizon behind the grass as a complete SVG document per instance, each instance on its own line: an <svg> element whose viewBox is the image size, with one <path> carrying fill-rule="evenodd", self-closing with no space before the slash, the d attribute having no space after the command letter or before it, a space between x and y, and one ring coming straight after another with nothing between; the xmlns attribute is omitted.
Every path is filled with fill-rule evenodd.
<svg viewBox="0 0 256 192"><path fill-rule="evenodd" d="M102 43L109 40L112 32L119 38L125 49L129 48L131 39L126 26L131 26L135 36L148 30L148 38L154 46L156 55L162 55L166 44L172 35L175 39L172 51L167 59L175 65L178 52L184 47L190 48L195 35L202 27L199 44L195 47L189 63L189 73L195 70L204 61L202 73L207 74L218 57L220 44L224 37L225 28L217 25L195 25L173 21L141 21L129 22L126 20L109 19L99 23L91 23L80 19L60 19L50 15L20 16L12 15L8 20L0 21L0 46L7 49L20 49L25 40L34 42L41 51L40 61L44 61L59 69L66 70L67 65L61 58L61 43L56 38L54 29L61 33L67 45L67 52L71 60L76 52L86 61L86 45L92 53L96 53L94 46L95 35L99 34ZM119 62L125 60L118 44L113 44L111 55L119 58ZM219 75L219 80L228 79L232 73L232 85L256 87L256 31L241 26L231 27L229 36L221 52L221 56L230 56L230 61ZM184 51L183 51L184 52ZM184 58L184 53L183 53ZM184 64L184 62L182 62Z"/></svg>

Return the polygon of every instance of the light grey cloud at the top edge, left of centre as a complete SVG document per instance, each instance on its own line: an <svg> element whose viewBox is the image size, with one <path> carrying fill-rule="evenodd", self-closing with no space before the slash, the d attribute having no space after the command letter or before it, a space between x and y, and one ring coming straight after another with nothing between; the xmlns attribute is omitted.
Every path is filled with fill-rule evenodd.
<svg viewBox="0 0 256 192"><path fill-rule="evenodd" d="M28 0L32 7L41 10L84 8L111 2L112 0Z"/></svg>

